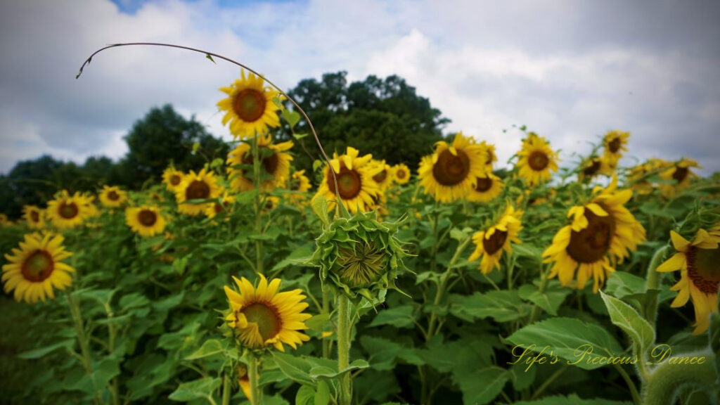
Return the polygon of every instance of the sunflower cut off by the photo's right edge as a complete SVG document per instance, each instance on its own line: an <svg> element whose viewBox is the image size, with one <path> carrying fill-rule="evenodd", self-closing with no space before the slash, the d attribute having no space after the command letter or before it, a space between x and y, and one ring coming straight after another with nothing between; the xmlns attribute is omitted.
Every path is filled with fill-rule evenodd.
<svg viewBox="0 0 720 405"><path fill-rule="evenodd" d="M710 326L710 314L718 308L718 287L720 285L720 235L698 230L695 239L689 242L675 231L670 231L675 253L667 262L657 267L658 272L680 270L680 281L670 290L678 291L672 308L678 308L693 301L695 306L695 330L701 334Z"/></svg>

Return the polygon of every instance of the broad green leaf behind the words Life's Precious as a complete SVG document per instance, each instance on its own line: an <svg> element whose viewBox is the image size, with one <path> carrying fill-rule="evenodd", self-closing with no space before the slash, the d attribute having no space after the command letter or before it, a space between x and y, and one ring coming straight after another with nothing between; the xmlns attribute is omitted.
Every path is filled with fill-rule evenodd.
<svg viewBox="0 0 720 405"><path fill-rule="evenodd" d="M530 355L523 351L542 353L547 362L559 359L585 370L606 365L603 359L622 354L620 344L602 327L572 318L551 318L523 327L506 339L515 344L514 362L528 361ZM518 358L519 357L519 358Z"/></svg>

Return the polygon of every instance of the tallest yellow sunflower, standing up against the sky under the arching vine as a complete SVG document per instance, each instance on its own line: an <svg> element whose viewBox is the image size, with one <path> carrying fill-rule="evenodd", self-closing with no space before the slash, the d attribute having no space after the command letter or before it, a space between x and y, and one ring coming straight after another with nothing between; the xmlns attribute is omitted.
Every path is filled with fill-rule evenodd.
<svg viewBox="0 0 720 405"><path fill-rule="evenodd" d="M264 86L262 77L240 70L240 79L228 87L220 87L228 97L220 100L217 107L225 111L222 125L230 123L230 133L237 139L251 138L267 132L268 127L280 126L279 108L272 101L278 92Z"/></svg>

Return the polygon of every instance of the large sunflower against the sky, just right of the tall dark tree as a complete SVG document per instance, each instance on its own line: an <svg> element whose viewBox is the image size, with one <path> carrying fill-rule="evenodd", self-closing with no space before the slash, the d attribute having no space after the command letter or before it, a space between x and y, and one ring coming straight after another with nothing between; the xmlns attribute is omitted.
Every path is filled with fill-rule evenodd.
<svg viewBox="0 0 720 405"><path fill-rule="evenodd" d="M489 171L485 148L457 133L452 144L436 144L435 153L423 157L418 174L420 185L441 203L450 203L469 194L477 177Z"/></svg>

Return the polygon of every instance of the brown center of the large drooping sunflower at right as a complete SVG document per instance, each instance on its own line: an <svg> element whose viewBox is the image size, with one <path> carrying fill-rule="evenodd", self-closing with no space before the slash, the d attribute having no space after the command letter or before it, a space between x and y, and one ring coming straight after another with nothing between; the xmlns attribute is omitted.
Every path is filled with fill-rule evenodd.
<svg viewBox="0 0 720 405"><path fill-rule="evenodd" d="M570 244L566 251L575 262L595 263L610 250L615 220L611 215L601 217L588 209L585 209L585 218L588 218L588 227L570 233Z"/></svg>

